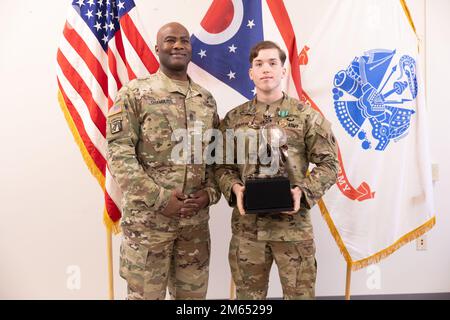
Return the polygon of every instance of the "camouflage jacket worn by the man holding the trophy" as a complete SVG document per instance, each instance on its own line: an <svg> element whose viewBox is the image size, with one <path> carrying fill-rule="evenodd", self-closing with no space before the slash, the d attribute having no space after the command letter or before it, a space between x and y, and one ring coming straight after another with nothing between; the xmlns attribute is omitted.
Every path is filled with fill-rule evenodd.
<svg viewBox="0 0 450 320"><path fill-rule="evenodd" d="M216 169L219 187L230 206L235 207L233 234L255 240L310 240L313 228L309 209L336 182L338 174L337 146L331 124L310 106L284 94L283 99L271 105L259 103L255 98L234 108L222 120L220 129L225 137L226 129L258 129L267 123L285 129L289 159L286 169L291 186L302 190L300 211L292 216L278 213L241 216L235 207L232 186L235 183L244 185L246 178L255 172L255 165L248 161L237 164L235 159L235 164L225 163ZM310 163L315 167L307 175Z"/></svg>

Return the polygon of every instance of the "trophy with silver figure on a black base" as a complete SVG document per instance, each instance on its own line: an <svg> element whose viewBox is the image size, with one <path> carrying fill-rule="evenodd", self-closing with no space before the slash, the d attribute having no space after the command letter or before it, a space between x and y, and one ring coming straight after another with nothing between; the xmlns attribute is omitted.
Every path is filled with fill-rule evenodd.
<svg viewBox="0 0 450 320"><path fill-rule="evenodd" d="M246 213L277 213L294 209L291 184L286 170L288 146L286 132L276 124L267 124L261 131L259 156L267 154L270 165L260 159L254 174L245 181ZM264 150L265 148L265 150Z"/></svg>

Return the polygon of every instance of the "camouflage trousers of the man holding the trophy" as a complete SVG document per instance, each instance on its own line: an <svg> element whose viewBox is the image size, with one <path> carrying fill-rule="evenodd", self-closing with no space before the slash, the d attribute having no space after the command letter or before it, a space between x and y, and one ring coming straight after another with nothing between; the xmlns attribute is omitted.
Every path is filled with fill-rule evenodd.
<svg viewBox="0 0 450 320"><path fill-rule="evenodd" d="M284 299L313 299L317 264L314 240L257 241L233 235L228 259L241 300L265 299L273 260Z"/></svg>

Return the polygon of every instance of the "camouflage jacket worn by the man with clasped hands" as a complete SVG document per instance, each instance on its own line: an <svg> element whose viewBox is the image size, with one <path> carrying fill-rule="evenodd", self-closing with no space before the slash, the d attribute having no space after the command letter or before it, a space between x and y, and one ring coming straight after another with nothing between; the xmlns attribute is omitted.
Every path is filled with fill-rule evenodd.
<svg viewBox="0 0 450 320"><path fill-rule="evenodd" d="M189 81L185 92L161 70L148 78L132 80L120 89L108 113L107 158L123 193L122 227L141 223L143 228L165 231L208 220L208 208L189 219L163 216L161 211L174 189L185 194L205 189L210 205L220 199L214 168L191 161L194 148L187 149L187 161L180 163L172 158L172 149L180 142L173 141L172 133L179 129L186 132L196 122L203 124L203 131L219 125L212 95ZM190 131L190 139L185 140L191 141L193 133L202 134Z"/></svg>

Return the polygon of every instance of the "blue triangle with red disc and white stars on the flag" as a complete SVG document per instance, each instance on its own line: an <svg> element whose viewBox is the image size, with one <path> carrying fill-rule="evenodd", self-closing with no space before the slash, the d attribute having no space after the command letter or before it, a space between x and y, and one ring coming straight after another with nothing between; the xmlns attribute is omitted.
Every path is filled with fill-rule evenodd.
<svg viewBox="0 0 450 320"><path fill-rule="evenodd" d="M251 47L264 40L261 1L234 1L221 9L205 17L203 29L192 35L192 49L198 53L192 62L251 99L254 84L246 71Z"/></svg>

